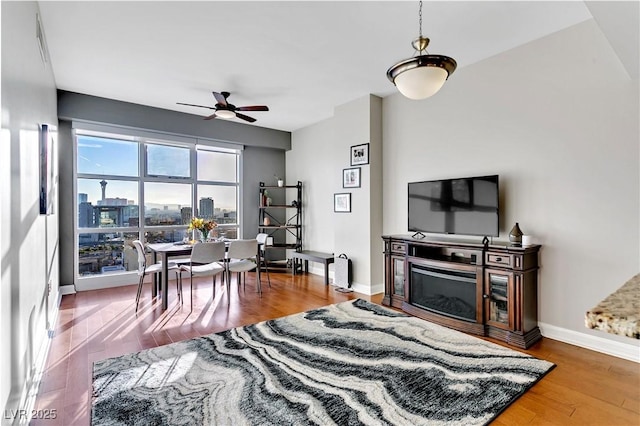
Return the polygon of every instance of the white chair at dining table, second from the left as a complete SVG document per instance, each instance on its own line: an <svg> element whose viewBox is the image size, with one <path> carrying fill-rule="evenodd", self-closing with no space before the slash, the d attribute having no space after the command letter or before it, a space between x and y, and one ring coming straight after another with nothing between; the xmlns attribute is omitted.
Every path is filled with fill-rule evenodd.
<svg viewBox="0 0 640 426"><path fill-rule="evenodd" d="M196 243L191 250L188 264L180 265L179 287L182 293L182 272L188 272L191 279L191 310L193 310L193 277L213 275L213 297L216 297L216 277L224 272L225 244L223 241ZM223 275L224 284L224 275Z"/></svg>

